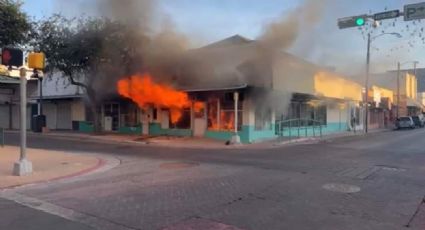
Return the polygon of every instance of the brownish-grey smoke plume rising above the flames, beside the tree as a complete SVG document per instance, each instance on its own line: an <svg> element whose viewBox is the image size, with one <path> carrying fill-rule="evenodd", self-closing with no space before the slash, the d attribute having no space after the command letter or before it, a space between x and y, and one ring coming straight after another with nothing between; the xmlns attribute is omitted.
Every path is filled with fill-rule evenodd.
<svg viewBox="0 0 425 230"><path fill-rule="evenodd" d="M149 72L155 81L170 81L177 62L187 50L190 40L175 28L155 0L95 0L92 5L96 17L118 22L125 30L131 60L123 60L123 47L111 41L101 44L103 53L114 59L98 66L100 69L91 82L99 99L112 95L116 82L137 73ZM118 46L121 46L122 43ZM127 49L127 48L125 48Z"/></svg>

